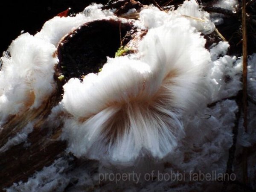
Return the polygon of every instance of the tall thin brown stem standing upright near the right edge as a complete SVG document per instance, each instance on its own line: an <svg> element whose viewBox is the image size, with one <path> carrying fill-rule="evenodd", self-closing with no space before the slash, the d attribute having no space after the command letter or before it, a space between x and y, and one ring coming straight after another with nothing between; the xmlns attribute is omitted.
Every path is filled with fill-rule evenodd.
<svg viewBox="0 0 256 192"><path fill-rule="evenodd" d="M246 0L242 0L242 29L243 29L243 113L244 132L247 133L247 34L246 34ZM243 179L248 183L247 148L243 150Z"/></svg>

